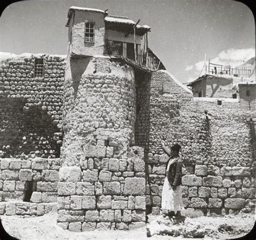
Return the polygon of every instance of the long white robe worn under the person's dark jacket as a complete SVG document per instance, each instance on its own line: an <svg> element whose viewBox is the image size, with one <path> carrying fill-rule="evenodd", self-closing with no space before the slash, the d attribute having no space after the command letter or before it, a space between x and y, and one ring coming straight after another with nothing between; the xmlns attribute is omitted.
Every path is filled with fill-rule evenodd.
<svg viewBox="0 0 256 240"><path fill-rule="evenodd" d="M169 172L171 164L173 164L176 161L177 158L174 158L169 161L166 169L167 173ZM163 210L164 213L167 213L168 211L174 211L176 213L177 211L180 211L181 208L183 208L181 185L178 186L175 190L173 190L166 175L162 191L161 209Z"/></svg>

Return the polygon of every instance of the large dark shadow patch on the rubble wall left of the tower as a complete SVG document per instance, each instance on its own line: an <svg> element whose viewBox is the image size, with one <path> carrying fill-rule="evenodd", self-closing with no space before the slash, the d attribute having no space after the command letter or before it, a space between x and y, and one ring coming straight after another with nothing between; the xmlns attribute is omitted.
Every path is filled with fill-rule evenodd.
<svg viewBox="0 0 256 240"><path fill-rule="evenodd" d="M59 132L51 116L41 107L24 111L22 99L0 99L0 150L3 157L28 155L31 152L41 157L59 157L60 146L53 140Z"/></svg>

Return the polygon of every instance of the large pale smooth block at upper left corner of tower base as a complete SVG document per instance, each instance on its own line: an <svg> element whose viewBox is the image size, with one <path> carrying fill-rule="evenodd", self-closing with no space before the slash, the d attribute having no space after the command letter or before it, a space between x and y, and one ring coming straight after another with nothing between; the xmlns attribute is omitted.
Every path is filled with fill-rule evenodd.
<svg viewBox="0 0 256 240"><path fill-rule="evenodd" d="M59 169L60 182L79 182L81 179L81 169L77 166L62 167Z"/></svg>

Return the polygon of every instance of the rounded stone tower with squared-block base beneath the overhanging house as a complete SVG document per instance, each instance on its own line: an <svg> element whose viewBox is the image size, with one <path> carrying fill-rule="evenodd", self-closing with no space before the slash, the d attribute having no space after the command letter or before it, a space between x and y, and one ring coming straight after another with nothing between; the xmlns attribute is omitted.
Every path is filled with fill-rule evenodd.
<svg viewBox="0 0 256 240"><path fill-rule="evenodd" d="M145 225L144 149L134 145L134 71L109 58L68 60L58 224L71 231Z"/></svg>

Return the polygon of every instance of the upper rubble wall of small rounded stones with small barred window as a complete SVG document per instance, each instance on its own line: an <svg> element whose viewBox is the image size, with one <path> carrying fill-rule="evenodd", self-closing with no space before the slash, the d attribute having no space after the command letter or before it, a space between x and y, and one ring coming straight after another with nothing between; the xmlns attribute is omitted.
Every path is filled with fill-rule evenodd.
<svg viewBox="0 0 256 240"><path fill-rule="evenodd" d="M43 77L34 77L35 57ZM65 58L36 55L0 63L0 157L59 157Z"/></svg>

